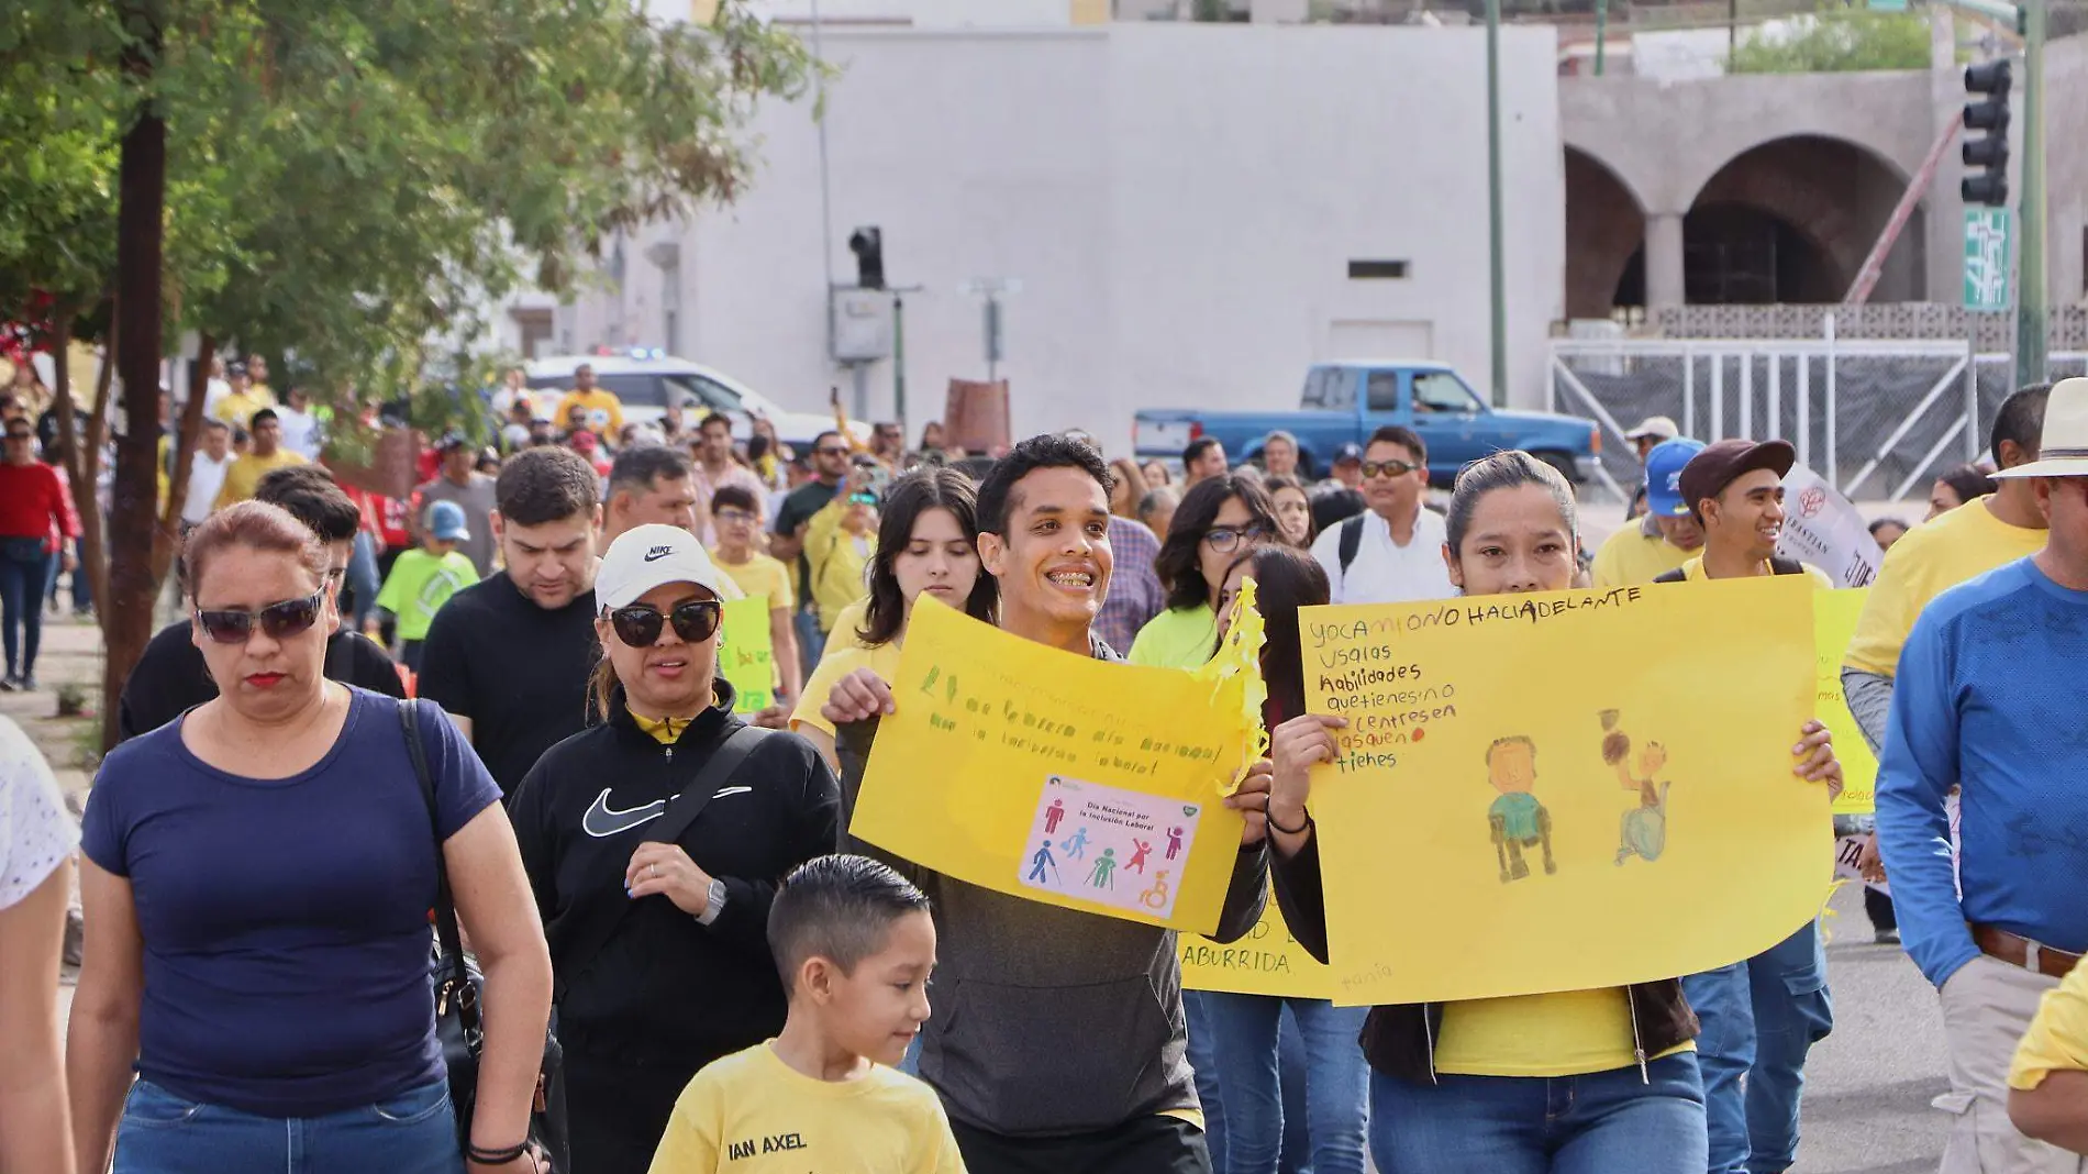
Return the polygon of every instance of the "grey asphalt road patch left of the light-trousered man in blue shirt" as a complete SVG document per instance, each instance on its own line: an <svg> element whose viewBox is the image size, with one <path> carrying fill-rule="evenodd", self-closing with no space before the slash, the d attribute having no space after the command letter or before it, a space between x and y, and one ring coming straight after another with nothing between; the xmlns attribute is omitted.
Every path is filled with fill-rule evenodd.
<svg viewBox="0 0 2088 1174"><path fill-rule="evenodd" d="M1929 1107L1950 1086L1936 990L1900 946L1871 942L1854 886L1844 886L1831 909L1827 986L1835 1026L1806 1063L1794 1174L1936 1170L1950 1128L1950 1118Z"/></svg>

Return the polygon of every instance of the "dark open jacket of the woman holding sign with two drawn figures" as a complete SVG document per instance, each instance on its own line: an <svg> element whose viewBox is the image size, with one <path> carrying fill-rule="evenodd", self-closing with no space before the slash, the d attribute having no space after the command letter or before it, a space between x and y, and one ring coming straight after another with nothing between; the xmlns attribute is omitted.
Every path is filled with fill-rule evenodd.
<svg viewBox="0 0 2088 1174"><path fill-rule="evenodd" d="M1270 873L1276 884L1276 905L1284 911L1290 936L1305 950L1326 961L1326 890L1320 884L1320 836L1305 840L1297 856L1284 859L1270 850ZM1418 948L1428 948L1418 944ZM1647 1057L1693 1040L1695 1011L1683 999L1683 980L1664 978L1624 988L1631 1007L1631 1051L1645 1076ZM1434 1084L1434 1042L1443 1034L1441 1003L1407 1003L1372 1007L1363 1019L1363 1059L1384 1076L1414 1084Z"/></svg>

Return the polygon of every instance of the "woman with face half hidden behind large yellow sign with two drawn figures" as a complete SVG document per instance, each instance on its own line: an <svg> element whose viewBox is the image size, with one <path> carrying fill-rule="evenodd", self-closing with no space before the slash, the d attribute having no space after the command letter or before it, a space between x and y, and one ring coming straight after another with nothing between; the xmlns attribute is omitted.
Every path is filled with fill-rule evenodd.
<svg viewBox="0 0 2088 1174"><path fill-rule="evenodd" d="M1572 487L1522 451L1457 476L1445 562L1464 595L1564 591ZM1276 892L1292 934L1326 959L1326 898L1307 796L1343 719L1280 725L1267 811ZM1833 781L1825 727L1806 723L1794 773ZM1426 948L1426 946L1422 946ZM1681 980L1629 988L1374 1007L1370 1149L1384 1174L1702 1174L1708 1164L1695 1013Z"/></svg>

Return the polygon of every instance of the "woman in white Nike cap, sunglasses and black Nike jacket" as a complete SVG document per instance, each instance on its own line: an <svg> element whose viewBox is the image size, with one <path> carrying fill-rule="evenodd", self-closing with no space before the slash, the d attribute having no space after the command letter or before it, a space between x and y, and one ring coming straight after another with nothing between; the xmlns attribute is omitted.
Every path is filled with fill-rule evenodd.
<svg viewBox="0 0 2088 1174"><path fill-rule="evenodd" d="M796 733L754 731L706 771L745 729L716 671L722 583L683 529L610 543L603 723L547 750L509 808L551 942L576 1174L645 1174L695 1070L783 1028L768 902L839 846L833 773Z"/></svg>

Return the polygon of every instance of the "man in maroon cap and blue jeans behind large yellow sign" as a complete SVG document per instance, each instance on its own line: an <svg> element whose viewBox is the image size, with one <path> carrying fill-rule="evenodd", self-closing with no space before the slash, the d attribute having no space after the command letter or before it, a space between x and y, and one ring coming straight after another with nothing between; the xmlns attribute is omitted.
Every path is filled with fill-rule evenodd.
<svg viewBox="0 0 2088 1174"><path fill-rule="evenodd" d="M1823 570L1777 558L1783 476L1796 460L1783 441L1718 441L1693 455L1677 487L1704 526L1704 554L1654 583L1810 574L1817 587L1831 589ZM1819 921L1806 921L1752 959L1685 978L1683 994L1704 1026L1698 1063L1710 1174L1789 1170L1798 1155L1806 1053L1833 1030Z"/></svg>

